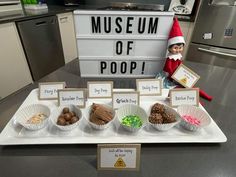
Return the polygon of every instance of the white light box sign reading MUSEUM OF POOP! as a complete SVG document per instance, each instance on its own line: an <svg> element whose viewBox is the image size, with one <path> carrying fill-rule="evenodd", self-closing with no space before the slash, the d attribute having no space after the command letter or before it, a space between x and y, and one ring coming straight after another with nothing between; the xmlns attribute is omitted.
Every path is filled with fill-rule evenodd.
<svg viewBox="0 0 236 177"><path fill-rule="evenodd" d="M81 76L155 76L164 64L173 16L173 12L74 11Z"/></svg>

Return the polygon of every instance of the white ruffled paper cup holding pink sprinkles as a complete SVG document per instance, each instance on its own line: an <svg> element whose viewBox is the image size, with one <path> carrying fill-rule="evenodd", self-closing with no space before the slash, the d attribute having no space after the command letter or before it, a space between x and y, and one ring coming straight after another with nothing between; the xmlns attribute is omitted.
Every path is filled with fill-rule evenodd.
<svg viewBox="0 0 236 177"><path fill-rule="evenodd" d="M181 105L177 108L181 116L180 125L190 131L199 131L201 128L211 123L210 116L202 109L192 105ZM199 125L194 125L183 118L184 115L192 116L200 121Z"/></svg>

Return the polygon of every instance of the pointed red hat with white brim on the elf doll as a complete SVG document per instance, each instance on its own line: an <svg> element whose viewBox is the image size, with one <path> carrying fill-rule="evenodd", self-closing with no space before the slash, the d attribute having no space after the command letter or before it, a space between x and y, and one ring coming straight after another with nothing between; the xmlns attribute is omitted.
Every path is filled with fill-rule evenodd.
<svg viewBox="0 0 236 177"><path fill-rule="evenodd" d="M174 22L172 28L170 30L169 38L168 38L168 46L177 44L177 43L184 43L183 33L179 26L179 22L177 18L174 18Z"/></svg>

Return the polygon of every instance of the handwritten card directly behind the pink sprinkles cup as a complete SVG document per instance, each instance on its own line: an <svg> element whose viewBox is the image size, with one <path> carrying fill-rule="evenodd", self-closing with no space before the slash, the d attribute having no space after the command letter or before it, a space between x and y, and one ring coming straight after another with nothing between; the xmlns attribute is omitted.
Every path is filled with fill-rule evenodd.
<svg viewBox="0 0 236 177"><path fill-rule="evenodd" d="M177 107L180 105L199 105L199 89L171 89L170 90L170 105Z"/></svg>

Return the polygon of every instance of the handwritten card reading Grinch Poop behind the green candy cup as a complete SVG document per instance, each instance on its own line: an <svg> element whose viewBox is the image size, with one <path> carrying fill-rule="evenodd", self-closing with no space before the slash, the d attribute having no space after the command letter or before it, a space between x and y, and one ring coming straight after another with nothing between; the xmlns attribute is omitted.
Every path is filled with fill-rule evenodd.
<svg viewBox="0 0 236 177"><path fill-rule="evenodd" d="M139 105L139 92L113 92L113 109L118 109L124 104Z"/></svg>

